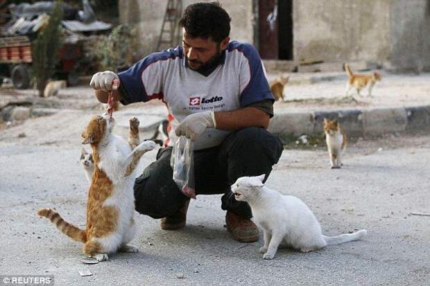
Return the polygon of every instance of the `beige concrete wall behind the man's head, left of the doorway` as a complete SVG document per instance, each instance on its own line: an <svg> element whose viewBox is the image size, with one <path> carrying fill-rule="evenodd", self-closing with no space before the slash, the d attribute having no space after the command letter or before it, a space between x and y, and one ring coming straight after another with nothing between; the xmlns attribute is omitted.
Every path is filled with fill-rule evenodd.
<svg viewBox="0 0 430 286"><path fill-rule="evenodd" d="M183 8L191 3L209 2L208 0L183 0ZM230 37L241 42L253 42L252 1L221 0L231 22ZM148 55L155 51L162 26L167 0L119 0L119 20L124 24L137 26L141 42L139 55Z"/></svg>

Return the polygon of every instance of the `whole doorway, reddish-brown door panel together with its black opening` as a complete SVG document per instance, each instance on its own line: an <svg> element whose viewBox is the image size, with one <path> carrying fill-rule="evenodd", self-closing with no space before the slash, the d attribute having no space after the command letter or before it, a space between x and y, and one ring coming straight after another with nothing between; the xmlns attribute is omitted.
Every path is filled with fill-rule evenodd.
<svg viewBox="0 0 430 286"><path fill-rule="evenodd" d="M261 58L293 60L293 0L259 0L258 9ZM276 18L270 25L268 17L273 19L273 15Z"/></svg>

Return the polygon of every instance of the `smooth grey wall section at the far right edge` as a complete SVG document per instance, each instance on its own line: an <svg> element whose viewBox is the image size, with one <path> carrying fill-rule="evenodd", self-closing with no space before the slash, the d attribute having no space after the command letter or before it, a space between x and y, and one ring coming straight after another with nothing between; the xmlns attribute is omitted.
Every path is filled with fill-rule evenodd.
<svg viewBox="0 0 430 286"><path fill-rule="evenodd" d="M399 71L430 69L430 1L392 1L388 63Z"/></svg>

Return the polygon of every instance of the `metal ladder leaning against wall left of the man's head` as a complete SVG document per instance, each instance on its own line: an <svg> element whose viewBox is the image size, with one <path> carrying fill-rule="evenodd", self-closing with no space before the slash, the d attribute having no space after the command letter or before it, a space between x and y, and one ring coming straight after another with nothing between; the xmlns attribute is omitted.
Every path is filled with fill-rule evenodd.
<svg viewBox="0 0 430 286"><path fill-rule="evenodd" d="M162 47L173 47L180 43L181 29L179 19L182 17L182 0L168 0L163 24L158 38L157 51Z"/></svg>

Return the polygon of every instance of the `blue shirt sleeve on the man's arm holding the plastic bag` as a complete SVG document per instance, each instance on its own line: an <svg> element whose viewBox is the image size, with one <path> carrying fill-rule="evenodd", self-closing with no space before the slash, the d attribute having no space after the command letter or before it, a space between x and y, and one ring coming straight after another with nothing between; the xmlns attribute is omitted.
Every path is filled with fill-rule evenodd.
<svg viewBox="0 0 430 286"><path fill-rule="evenodd" d="M241 107L246 107L254 102L267 99L274 102L275 98L270 91L263 62L261 62L257 49L251 44L240 44L238 50L247 59L246 64L243 64L241 68L241 72L250 73L249 82L241 93Z"/></svg>

